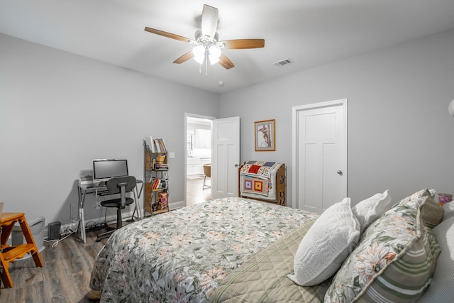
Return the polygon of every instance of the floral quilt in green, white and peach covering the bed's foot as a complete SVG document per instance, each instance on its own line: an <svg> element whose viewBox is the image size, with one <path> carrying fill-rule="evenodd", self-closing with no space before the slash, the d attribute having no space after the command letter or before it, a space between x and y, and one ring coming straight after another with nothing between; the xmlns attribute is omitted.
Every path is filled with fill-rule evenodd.
<svg viewBox="0 0 454 303"><path fill-rule="evenodd" d="M243 198L153 216L109 238L90 287L101 302L206 302L228 272L317 216Z"/></svg>

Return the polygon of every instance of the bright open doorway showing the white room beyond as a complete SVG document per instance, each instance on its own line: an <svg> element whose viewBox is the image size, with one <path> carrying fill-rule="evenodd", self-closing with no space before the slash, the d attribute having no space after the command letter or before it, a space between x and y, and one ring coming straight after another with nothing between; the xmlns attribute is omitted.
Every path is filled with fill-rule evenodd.
<svg viewBox="0 0 454 303"><path fill-rule="evenodd" d="M211 199L211 130L213 117L185 114L186 205Z"/></svg>

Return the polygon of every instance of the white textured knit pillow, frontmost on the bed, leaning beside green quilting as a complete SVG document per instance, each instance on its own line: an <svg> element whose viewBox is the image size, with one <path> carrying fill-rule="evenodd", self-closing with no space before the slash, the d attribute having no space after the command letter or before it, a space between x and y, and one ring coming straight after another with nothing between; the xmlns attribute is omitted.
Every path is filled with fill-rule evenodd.
<svg viewBox="0 0 454 303"><path fill-rule="evenodd" d="M317 285L331 277L360 238L360 224L350 208L350 198L330 206L319 216L299 243L294 275L301 286Z"/></svg>

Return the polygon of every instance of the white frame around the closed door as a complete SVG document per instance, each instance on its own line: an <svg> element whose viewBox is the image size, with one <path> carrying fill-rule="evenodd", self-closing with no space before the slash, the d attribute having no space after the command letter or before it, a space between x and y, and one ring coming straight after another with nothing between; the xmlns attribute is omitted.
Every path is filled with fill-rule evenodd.
<svg viewBox="0 0 454 303"><path fill-rule="evenodd" d="M297 197L297 184L299 176L297 175L298 158L299 155L299 133L298 133L298 114L299 111L308 111L312 109L321 109L324 107L343 106L343 148L342 158L345 162L343 169L343 189L345 197L348 197L348 99L338 99L333 101L325 101L313 104L305 104L301 106L292 107L292 208L299 208Z"/></svg>

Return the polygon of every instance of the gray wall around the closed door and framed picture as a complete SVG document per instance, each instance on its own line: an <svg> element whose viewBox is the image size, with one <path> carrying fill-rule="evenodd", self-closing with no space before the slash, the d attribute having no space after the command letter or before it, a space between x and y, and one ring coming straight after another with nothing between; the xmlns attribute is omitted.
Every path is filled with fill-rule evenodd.
<svg viewBox="0 0 454 303"><path fill-rule="evenodd" d="M281 67L285 68L285 67ZM348 99L348 196L390 190L454 192L454 31L221 95L221 117L241 117L241 161L287 163L292 192L292 106ZM276 119L276 151L255 152L253 122Z"/></svg>

